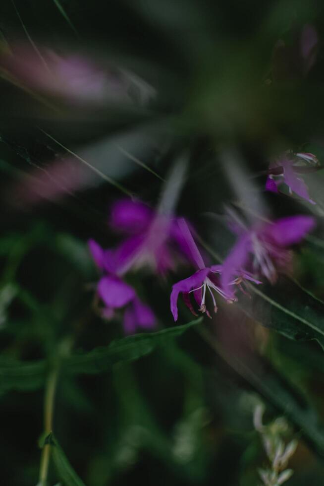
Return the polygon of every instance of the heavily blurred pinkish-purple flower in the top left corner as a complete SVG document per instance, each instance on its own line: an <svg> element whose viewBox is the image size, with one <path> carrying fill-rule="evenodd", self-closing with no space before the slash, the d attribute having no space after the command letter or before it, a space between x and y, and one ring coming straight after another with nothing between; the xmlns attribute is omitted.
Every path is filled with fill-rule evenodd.
<svg viewBox="0 0 324 486"><path fill-rule="evenodd" d="M79 53L57 55L53 50L13 46L13 54L0 58L10 77L28 88L59 96L73 103L146 103L155 90L134 73L98 64ZM131 94L135 94L135 97ZM136 98L136 99L135 99Z"/></svg>

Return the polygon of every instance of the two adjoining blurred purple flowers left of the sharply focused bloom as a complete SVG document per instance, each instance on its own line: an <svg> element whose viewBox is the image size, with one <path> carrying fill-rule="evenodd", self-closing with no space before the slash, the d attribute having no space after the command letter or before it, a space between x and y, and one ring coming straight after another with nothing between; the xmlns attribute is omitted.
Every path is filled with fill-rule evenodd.
<svg viewBox="0 0 324 486"><path fill-rule="evenodd" d="M153 328L154 312L141 302L124 277L141 267L165 275L175 267L177 255L186 254L182 234L176 220L131 200L113 205L109 224L125 236L116 248L103 249L96 241L89 241L92 257L102 272L97 284L97 296L105 305L101 315L111 319L117 309L123 309L126 334L134 333L137 328Z"/></svg>

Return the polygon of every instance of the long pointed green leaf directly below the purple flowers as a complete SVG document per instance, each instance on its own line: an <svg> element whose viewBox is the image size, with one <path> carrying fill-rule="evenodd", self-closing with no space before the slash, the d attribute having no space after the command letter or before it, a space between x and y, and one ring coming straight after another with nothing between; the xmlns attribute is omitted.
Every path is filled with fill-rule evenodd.
<svg viewBox="0 0 324 486"><path fill-rule="evenodd" d="M134 361L148 355L157 345L181 336L201 321L200 317L182 326L117 339L107 347L99 347L89 353L75 354L66 360L65 366L71 373L100 373L108 370L113 364Z"/></svg>

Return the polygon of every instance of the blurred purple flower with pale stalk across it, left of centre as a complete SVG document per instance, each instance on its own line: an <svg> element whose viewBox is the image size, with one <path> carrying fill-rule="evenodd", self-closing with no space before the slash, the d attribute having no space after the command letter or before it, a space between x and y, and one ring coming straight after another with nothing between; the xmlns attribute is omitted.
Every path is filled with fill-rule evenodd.
<svg viewBox="0 0 324 486"><path fill-rule="evenodd" d="M139 201L123 199L111 211L110 225L127 235L116 250L121 271L149 266L165 275L180 254L188 256L177 219L154 211Z"/></svg>

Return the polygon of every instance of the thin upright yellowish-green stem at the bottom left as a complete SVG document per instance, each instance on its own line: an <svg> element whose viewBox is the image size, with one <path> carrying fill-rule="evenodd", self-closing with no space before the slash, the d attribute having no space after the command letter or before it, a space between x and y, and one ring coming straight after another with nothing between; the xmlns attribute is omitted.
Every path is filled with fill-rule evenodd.
<svg viewBox="0 0 324 486"><path fill-rule="evenodd" d="M58 376L58 366L55 366L48 376L46 389L45 389L44 432L46 435L48 435L53 428L53 411L54 411L57 376ZM47 476L49 471L50 455L51 455L51 445L45 444L42 450L38 486L47 486Z"/></svg>

